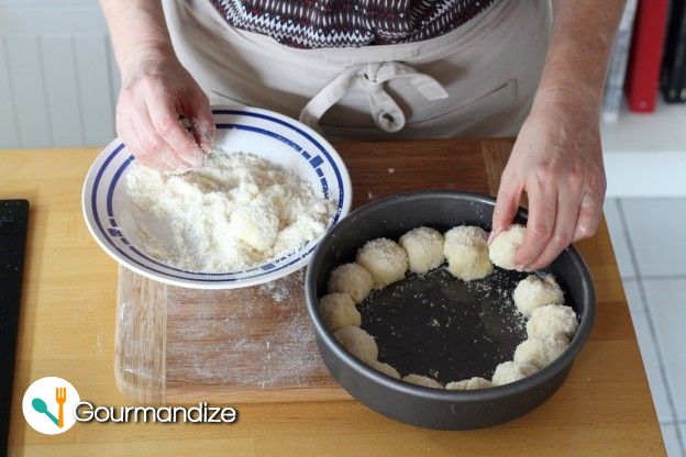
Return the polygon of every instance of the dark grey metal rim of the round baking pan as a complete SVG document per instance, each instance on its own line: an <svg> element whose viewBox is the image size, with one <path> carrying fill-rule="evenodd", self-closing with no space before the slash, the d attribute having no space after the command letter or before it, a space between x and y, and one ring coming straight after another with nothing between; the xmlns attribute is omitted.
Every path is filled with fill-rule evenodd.
<svg viewBox="0 0 686 457"><path fill-rule="evenodd" d="M554 378L560 371L562 371L565 367L571 366L574 358L578 355L582 347L588 339L590 334L590 330L593 327L593 322L596 313L596 294L595 288L593 285L593 278L590 271L584 258L580 256L578 250L572 245L569 245L564 252L567 253L572 260L579 267L582 271L582 276L584 279L584 283L586 287L582 291L583 300L587 303L587 308L584 310L582 314L582 319L579 322L578 330L569 346L565 349L565 352L558 356L552 364L546 366L545 368L536 371L532 376L525 377L519 381L510 382L502 386L494 386L488 389L477 389L477 390L447 390L447 389L433 389L423 386L417 386L408 382L403 382L399 379L391 378L387 375L384 375L374 368L369 367L364 361L359 360L351 353L348 353L333 336L333 333L330 332L321 316L319 315L319 310L317 303L319 301L319 297L317 297L317 285L316 285L316 276L317 276L317 267L322 258L323 254L328 249L328 245L332 242L332 238L335 237L335 232L338 230L345 230L346 224L350 224L353 220L352 216L365 216L366 214L373 213L379 207L387 207L392 204L394 202L403 201L407 202L413 200L425 200L425 199L436 199L436 198L462 198L467 200L474 200L482 203L487 203L495 205L496 199L486 196L483 193L476 192L466 192L466 191L456 191L456 190L419 190L411 191L405 193L398 193L395 196L386 197L384 199L367 203L352 213L348 214L347 218L342 220L339 224L329 231L324 237L320 241L310 263L308 265L307 274L306 274L306 302L308 308L308 313L310 315L310 320L312 321L317 336L320 338L323 344L325 344L338 358L340 358L345 365L352 368L357 375L367 378L376 382L377 384L383 386L384 388L390 389L398 393L412 395L414 398L420 398L424 400L433 400L441 402L454 402L454 403L469 403L473 401L489 401L497 400L502 398L508 398L512 395L517 395L520 393L524 393L531 388L543 384ZM517 213L517 220L525 222L527 221L527 210L520 208ZM335 378L335 376L334 376Z"/></svg>

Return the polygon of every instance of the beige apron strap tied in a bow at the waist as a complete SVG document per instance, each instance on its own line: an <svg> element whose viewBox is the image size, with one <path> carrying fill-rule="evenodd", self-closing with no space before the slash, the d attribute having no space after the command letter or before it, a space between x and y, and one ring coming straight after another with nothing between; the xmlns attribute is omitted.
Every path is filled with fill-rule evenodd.
<svg viewBox="0 0 686 457"><path fill-rule="evenodd" d="M406 79L428 101L447 98L443 85L409 65L397 62L354 65L335 77L305 105L300 112L300 122L317 127L321 116L341 100L356 81L367 96L374 123L386 132L398 132L405 126L405 113L384 89L385 82L396 78Z"/></svg>

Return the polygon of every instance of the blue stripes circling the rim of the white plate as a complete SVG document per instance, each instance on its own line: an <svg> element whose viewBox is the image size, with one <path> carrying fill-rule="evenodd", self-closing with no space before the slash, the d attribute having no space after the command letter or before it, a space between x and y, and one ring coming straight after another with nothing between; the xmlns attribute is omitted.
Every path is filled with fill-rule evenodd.
<svg viewBox="0 0 686 457"><path fill-rule="evenodd" d="M244 111L236 111L236 110L213 110L213 113L215 114L237 114L237 115L248 115L248 116L255 116L255 118L259 118L259 119L264 119L264 120L268 120L275 123L278 123L280 125L287 126L296 132L298 132L300 135L305 136L306 138L308 138L312 144L314 144L320 152L327 157L327 159L329 160L329 164L331 165L334 174L336 175L336 179L339 181L339 187L340 187L340 192L339 192L339 202L338 202L338 209L336 209L336 213L330 224L330 226L334 225L338 220L340 219L341 212L343 210L343 200L344 200L344 189L343 189L343 180L341 177L341 174L339 171L339 168L335 165L335 161L333 160L333 158L331 157L331 155L327 152L327 149L319 143L317 142L311 135L307 134L305 131L302 131L301 129L298 129L295 125L288 124L279 119L266 115L266 114L259 114L259 113L252 113L252 112L244 112ZM274 132L269 132L263 129L258 129L258 127L253 127L250 125L242 125L242 124L217 124L218 129L241 129L241 130L247 130L247 131L253 131L255 133L259 133L259 134L264 134L267 136L272 136L276 140L279 140L281 142L284 142L285 144L289 145L290 147L294 148L294 151L300 153L303 157L309 158L309 154L307 154L299 145L295 144L294 142L291 142L290 140L278 135ZM283 265L278 268L275 268L276 265L274 264L278 264L279 261L290 257L291 255L287 255L284 256L273 263L269 264L265 264L262 266L258 266L256 268L250 269L250 270L244 270L244 271L236 271L236 272L201 272L201 271L187 271L187 270L182 270L182 269L178 269L178 268L174 268L167 265L164 265L153 258L150 258L148 256L144 255L143 253L141 253L140 250L135 249L135 247L133 247L130 242L128 239L125 239L123 237L123 234L121 234L119 232L119 227L115 226L114 223L114 219L113 219L113 213L112 213L112 197L114 193L114 189L115 189L115 185L119 181L119 178L122 176L124 169L133 161L133 156L128 157L124 163L120 166L120 168L115 171L112 181L110 182L110 187L108 189L108 194L107 194L107 212L108 212L108 216L110 218L110 223L112 225L114 225L114 227L111 228L115 228L117 232L119 233L119 238L121 239L121 242L129 246L129 248L134 252L136 255L139 255L142 258L145 258L147 261L151 261L155 265L158 265L161 267L174 270L174 271L179 271L179 272L184 272L187 275L193 275L193 276L235 276L235 275L244 275L246 272L252 272L252 271L257 271L259 270L261 272L257 275L253 275L253 276L246 276L246 277L242 277L242 278L231 278L231 277L225 277L225 278L221 278L221 279L210 279L210 278L188 278L188 277L184 277L184 276L177 276L177 275L173 275L166 271L159 271L155 268L152 268L147 265L143 265L142 263L137 261L136 259L132 258L131 256L129 256L126 253L124 253L122 249L119 248L119 246L117 246L114 244L114 242L112 241L111 236L108 234L108 232L102 227L102 224L100 222L99 215L98 215L98 209L97 209L97 192L98 192L98 188L100 186L100 181L102 179L102 175L104 174L107 167L112 163L113 158L122 151L123 148L123 144L119 145L117 148L114 148L114 151L110 154L110 156L103 161L102 166L100 167L100 169L98 170L98 174L96 176L96 179L93 181L93 191L91 194L91 209L93 212L93 219L96 220L96 224L98 226L98 230L100 231L100 233L104 236L104 238L108 241L108 243L117 250L119 252L122 256L124 256L125 258L128 258L129 260L131 260L132 263L134 263L135 265L139 265L141 268L145 269L145 270L150 270L150 271L155 271L162 276L167 276L167 277L172 277L172 278L177 278L177 279L182 279L182 280L187 280L187 281L197 281L197 282L203 282L203 281L209 281L209 282L223 282L223 281L236 281L236 280L247 280L247 279L254 279L254 278L258 278L261 276L264 276L265 274L273 274L275 271L281 270L284 268L287 268L291 265L294 265L295 263L299 261L302 257L308 256L309 254L311 254L316 246L312 246L312 248L310 248L307 253L305 254L300 254L297 258L295 258L292 261ZM317 163L317 166L321 165L321 163L323 160L321 160L321 158L319 156L316 156L316 158L319 158L319 161ZM312 161L316 160L311 160L310 164ZM314 167L317 169L317 167ZM319 175L319 169L317 169L318 175ZM321 179L322 182L322 193L329 198L329 186L327 183L327 180L324 178Z"/></svg>

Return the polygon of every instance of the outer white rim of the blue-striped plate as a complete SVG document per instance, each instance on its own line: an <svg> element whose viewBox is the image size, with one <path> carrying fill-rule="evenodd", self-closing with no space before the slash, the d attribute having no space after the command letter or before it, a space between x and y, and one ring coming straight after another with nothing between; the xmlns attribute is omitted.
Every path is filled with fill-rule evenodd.
<svg viewBox="0 0 686 457"><path fill-rule="evenodd" d="M353 186L352 186L352 181L350 178L350 172L347 170L347 166L345 165L343 157L341 157L339 152L321 134L319 134L311 127L302 124L301 122L292 118L289 118L287 115L284 115L274 111L265 110L262 108L252 108L252 107L244 107L244 105L239 107L239 105L221 104L221 103L212 104L210 109L212 111L213 116L215 115L267 116L276 123L284 124L286 126L294 129L296 132L300 133L306 138L308 138L309 136L308 140L310 142L314 144L319 144L320 149L322 149L322 152L325 151L325 154L330 156L331 163L334 165L334 168L336 169L338 175L340 176L340 179L341 179L341 189L339 193L343 194L343 202L341 203L340 209L335 215L335 218L338 218L338 221L333 222L332 225L328 226L327 231L323 234L321 234L318 239L317 238L314 239L316 243L313 245L310 245L310 243L308 243L307 245L303 246L303 248L297 252L294 252L284 258L279 258L279 261L288 259L290 261L290 265L285 265L280 269L273 271L273 275L265 274L264 276L254 276L254 277L248 277L246 279L221 278L221 279L212 280L208 278L201 278L201 279L191 280L191 279L184 278L184 277L176 278L174 276L169 276L169 274L166 274L166 272L151 271L145 266L139 266L136 265L135 261L131 261L130 259L124 258L125 256L123 256L121 253L113 252L113 250L117 250L117 248L109 246L106 243L106 239L102 238L102 236L104 235L99 233L100 231L96 226L93 226L93 224L96 223L96 219L90 209L90 205L91 205L90 200L91 200L91 191L92 191L93 182L95 182L95 171L97 170L97 167L102 166L102 158L104 156L112 155L115 152L118 153L119 148L124 147L124 143L122 142L122 140L119 137L115 137L112 142L110 142L107 146L104 146L100 151L100 153L93 158L93 161L90 165L84 178L84 185L81 187L81 213L84 215L84 220L86 222L86 226L88 227L88 231L90 232L90 235L96 241L98 246L100 246L100 248L104 250L106 254L109 255L112 259L114 259L119 265L139 275L142 275L146 278L153 279L155 281L167 283L170 286L176 286L176 287L190 288L190 289L225 290L225 289L234 289L234 288L243 288L243 287L253 287L253 286L258 286L261 283L277 280L279 278L290 275L294 271L297 271L298 269L307 266L309 261L311 260L312 256L314 255L317 246L323 239L328 231L333 228L338 223L344 220L345 216L350 213L352 202L353 202ZM214 119L214 122L221 123L221 121L218 121L217 119ZM309 250L306 252L305 247L308 245L309 245ZM259 268L259 266L257 266L257 268ZM200 271L197 271L195 274L203 275L203 272L200 272ZM229 275L229 274L226 272L224 275Z"/></svg>

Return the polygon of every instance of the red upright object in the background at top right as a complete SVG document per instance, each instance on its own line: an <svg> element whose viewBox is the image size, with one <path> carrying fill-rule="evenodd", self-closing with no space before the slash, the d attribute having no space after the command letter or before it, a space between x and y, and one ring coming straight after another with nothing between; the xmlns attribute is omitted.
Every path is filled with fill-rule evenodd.
<svg viewBox="0 0 686 457"><path fill-rule="evenodd" d="M655 111L667 9L668 0L639 0L624 86L631 111Z"/></svg>

